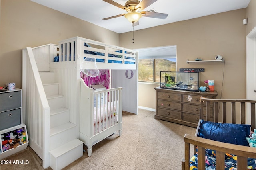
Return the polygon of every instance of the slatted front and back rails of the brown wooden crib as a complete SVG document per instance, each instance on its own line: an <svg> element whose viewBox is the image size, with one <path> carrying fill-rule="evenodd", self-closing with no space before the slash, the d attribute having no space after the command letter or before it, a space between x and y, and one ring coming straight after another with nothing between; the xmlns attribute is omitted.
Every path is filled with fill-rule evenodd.
<svg viewBox="0 0 256 170"><path fill-rule="evenodd" d="M255 113L256 101L246 99L208 99L201 98L200 119L214 122L250 124L251 130L256 128ZM256 149L248 146L234 145L202 137L186 134L185 157L182 160L182 170L189 170L190 166L190 145L198 147L198 169L205 169L205 148L216 150L216 169L224 169L225 153L237 155L237 169L247 169L247 157L255 158Z"/></svg>

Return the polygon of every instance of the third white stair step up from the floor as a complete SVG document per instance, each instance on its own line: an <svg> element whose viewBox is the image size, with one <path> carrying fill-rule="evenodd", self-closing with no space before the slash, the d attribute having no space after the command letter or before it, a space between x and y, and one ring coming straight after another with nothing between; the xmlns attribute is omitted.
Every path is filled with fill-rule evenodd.
<svg viewBox="0 0 256 170"><path fill-rule="evenodd" d="M70 110L62 107L50 110L50 128L68 123L70 120Z"/></svg>

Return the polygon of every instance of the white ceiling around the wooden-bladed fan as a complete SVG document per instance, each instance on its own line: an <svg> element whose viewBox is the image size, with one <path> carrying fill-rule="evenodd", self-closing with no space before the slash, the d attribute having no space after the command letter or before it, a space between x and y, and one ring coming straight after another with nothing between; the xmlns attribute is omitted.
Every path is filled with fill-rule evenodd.
<svg viewBox="0 0 256 170"><path fill-rule="evenodd" d="M54 10L80 18L116 33L132 31L132 24L124 17L102 20L126 11L108 4L102 0L31 0ZM114 0L124 6L127 0ZM154 9L156 12L167 13L164 20L142 17L135 30L155 27L177 21L188 20L220 12L246 8L250 0L158 0L144 9ZM242 21L241 21L242 23Z"/></svg>

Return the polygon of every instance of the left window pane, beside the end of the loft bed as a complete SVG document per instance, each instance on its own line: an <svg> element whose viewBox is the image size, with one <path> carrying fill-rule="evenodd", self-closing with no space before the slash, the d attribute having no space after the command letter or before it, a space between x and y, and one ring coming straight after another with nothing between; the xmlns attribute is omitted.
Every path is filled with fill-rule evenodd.
<svg viewBox="0 0 256 170"><path fill-rule="evenodd" d="M154 82L154 59L140 59L138 64L139 81Z"/></svg>

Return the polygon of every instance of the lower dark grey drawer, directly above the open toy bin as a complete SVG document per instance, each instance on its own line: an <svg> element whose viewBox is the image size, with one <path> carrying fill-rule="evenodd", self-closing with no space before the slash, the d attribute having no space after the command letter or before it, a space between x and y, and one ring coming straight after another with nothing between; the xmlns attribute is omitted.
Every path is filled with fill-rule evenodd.
<svg viewBox="0 0 256 170"><path fill-rule="evenodd" d="M21 109L0 113L0 131L21 124Z"/></svg>

